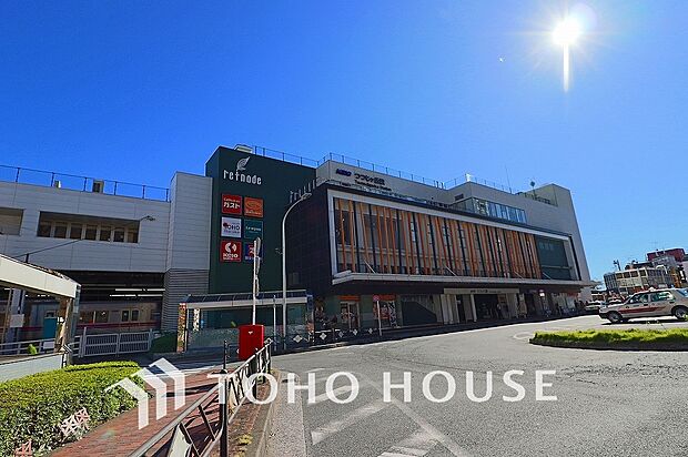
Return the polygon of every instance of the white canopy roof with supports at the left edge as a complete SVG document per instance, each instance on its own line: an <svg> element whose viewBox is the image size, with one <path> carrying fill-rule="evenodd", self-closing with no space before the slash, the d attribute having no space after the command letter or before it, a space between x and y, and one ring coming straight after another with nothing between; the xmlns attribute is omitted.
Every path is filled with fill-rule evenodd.
<svg viewBox="0 0 688 457"><path fill-rule="evenodd" d="M79 293L81 286L70 277L42 266L24 263L0 254L0 285L26 292L51 295L58 298L59 326L55 336L55 351L61 351L73 337L79 315ZM21 311L9 306L4 316L3 331L7 335L11 315Z"/></svg>

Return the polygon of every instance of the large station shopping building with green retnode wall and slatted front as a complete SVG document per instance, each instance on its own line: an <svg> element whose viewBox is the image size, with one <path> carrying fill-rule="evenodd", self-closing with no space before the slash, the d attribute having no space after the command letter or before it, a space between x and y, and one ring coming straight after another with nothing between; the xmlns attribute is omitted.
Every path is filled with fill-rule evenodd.
<svg viewBox="0 0 688 457"><path fill-rule="evenodd" d="M246 146L219 148L204 175L178 172L170 189L2 167L0 253L79 282L80 327L181 323L190 347L250 322L259 237L257 321L269 335L282 325L285 252L296 342L573 309L591 282L570 192L467 177ZM22 329L39 332L55 305L27 303Z"/></svg>

